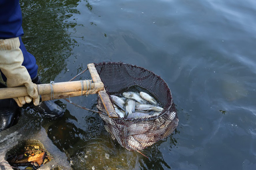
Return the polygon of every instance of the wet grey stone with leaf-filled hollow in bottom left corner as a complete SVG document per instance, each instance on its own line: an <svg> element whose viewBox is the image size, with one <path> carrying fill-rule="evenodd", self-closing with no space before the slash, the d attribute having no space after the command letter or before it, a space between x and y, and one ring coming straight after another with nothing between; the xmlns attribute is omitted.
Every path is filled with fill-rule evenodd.
<svg viewBox="0 0 256 170"><path fill-rule="evenodd" d="M19 121L17 125L23 122L24 121ZM57 166L62 169L72 169L66 155L52 143L44 128L38 132L31 133L31 131L24 131L24 129L22 130L22 128L20 128L25 126L17 125L0 132L0 162L4 164L0 166L0 169L12 169L9 164L9 162L12 161L10 160L11 156L14 156L13 162L15 160L28 158L31 160L32 158L36 158L33 156L44 151L46 152L46 156L41 156L44 156L44 160L42 160L41 163L43 166L40 166L38 170L50 170ZM40 139L40 141L38 139ZM26 162L25 160L22 161ZM38 164L38 162L36 163ZM23 164L21 169L35 169L37 164Z"/></svg>

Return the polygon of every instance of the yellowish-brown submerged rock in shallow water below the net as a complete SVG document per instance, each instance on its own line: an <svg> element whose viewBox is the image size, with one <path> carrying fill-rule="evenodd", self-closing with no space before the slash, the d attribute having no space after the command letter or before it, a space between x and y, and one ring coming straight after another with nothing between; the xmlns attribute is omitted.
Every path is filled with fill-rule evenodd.
<svg viewBox="0 0 256 170"><path fill-rule="evenodd" d="M86 144L83 150L70 157L70 163L74 168L133 169L140 157L136 152L130 152L103 138L101 142L95 140Z"/></svg>

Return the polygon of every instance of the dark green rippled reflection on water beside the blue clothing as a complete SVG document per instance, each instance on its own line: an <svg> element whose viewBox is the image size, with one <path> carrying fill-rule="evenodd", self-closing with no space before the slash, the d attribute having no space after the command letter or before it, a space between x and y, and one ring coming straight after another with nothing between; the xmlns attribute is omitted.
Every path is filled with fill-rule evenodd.
<svg viewBox="0 0 256 170"><path fill-rule="evenodd" d="M24 29L23 42L36 57L42 82L50 82L66 67L65 59L76 45L69 29L76 26L73 14L79 0L21 0ZM72 20L71 20L72 19Z"/></svg>

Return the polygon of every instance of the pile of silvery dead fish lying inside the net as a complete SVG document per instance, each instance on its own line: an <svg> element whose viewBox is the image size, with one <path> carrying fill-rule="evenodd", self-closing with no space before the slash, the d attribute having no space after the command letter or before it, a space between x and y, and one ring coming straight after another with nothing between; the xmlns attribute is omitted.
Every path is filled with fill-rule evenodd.
<svg viewBox="0 0 256 170"><path fill-rule="evenodd" d="M123 97L111 95L116 113L121 118L148 118L162 113L163 108L145 92L124 92Z"/></svg>

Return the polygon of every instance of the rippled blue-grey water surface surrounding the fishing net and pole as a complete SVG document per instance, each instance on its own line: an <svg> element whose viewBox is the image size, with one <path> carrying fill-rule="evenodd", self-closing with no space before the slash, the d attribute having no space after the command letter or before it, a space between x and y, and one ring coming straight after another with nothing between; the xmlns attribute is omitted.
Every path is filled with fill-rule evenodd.
<svg viewBox="0 0 256 170"><path fill-rule="evenodd" d="M56 101L65 110L59 120L24 109L74 169L256 168L256 1L21 0L21 7L23 41L42 82L121 61L161 76L177 105L176 132L145 149L149 159L113 141L99 115L64 100ZM72 102L97 104L95 95Z"/></svg>

